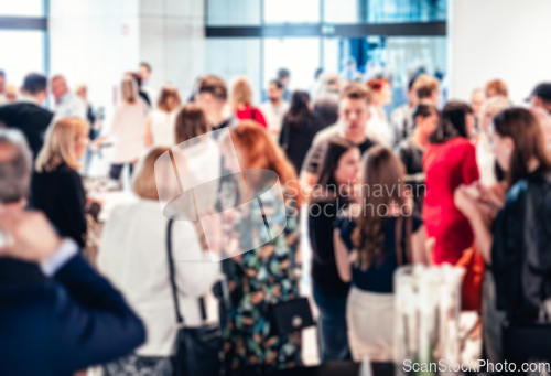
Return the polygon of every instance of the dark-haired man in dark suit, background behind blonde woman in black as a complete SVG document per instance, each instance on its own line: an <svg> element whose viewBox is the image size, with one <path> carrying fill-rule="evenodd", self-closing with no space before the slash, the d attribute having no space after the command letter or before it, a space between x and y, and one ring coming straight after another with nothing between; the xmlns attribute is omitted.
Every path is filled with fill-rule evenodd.
<svg viewBox="0 0 551 376"><path fill-rule="evenodd" d="M41 107L47 97L46 85L46 77L32 73L23 82L19 101L0 107L0 123L25 135L33 159L42 149L44 132L54 117L53 112Z"/></svg>

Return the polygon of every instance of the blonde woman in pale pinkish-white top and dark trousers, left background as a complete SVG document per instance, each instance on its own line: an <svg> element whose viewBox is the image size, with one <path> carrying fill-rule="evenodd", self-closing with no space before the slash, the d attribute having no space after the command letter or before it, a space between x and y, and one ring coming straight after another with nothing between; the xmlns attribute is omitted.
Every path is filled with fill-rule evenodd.
<svg viewBox="0 0 551 376"><path fill-rule="evenodd" d="M145 151L145 123L148 105L138 95L136 78L125 76L120 84L121 103L117 106L111 130L98 139L96 144L112 139L115 150L111 157L109 178L118 180L125 164L132 165Z"/></svg>

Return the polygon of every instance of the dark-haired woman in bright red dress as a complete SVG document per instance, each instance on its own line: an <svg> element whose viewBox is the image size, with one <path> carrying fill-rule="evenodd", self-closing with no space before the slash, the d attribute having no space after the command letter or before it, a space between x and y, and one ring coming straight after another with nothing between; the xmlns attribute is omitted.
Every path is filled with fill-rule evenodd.
<svg viewBox="0 0 551 376"><path fill-rule="evenodd" d="M428 236L435 239L432 259L436 265L456 264L473 245L473 229L455 207L453 193L461 184L478 180L476 152L469 140L474 127L473 109L464 103L450 101L423 155L426 175L423 222Z"/></svg>

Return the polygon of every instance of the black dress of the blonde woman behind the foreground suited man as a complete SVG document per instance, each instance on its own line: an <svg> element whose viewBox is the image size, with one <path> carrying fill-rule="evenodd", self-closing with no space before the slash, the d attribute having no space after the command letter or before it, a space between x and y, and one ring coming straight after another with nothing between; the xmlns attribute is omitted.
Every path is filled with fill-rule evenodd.
<svg viewBox="0 0 551 376"><path fill-rule="evenodd" d="M65 163L52 172L34 172L32 194L35 208L46 214L60 235L84 247L86 194L78 172Z"/></svg>

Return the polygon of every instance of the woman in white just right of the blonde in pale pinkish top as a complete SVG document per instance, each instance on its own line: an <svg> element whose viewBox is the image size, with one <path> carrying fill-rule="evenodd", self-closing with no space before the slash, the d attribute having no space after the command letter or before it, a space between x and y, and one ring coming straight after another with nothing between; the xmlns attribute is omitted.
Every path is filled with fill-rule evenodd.
<svg viewBox="0 0 551 376"><path fill-rule="evenodd" d="M174 85L166 84L161 90L156 109L151 112L145 126L145 146L173 147L174 125L182 100Z"/></svg>

